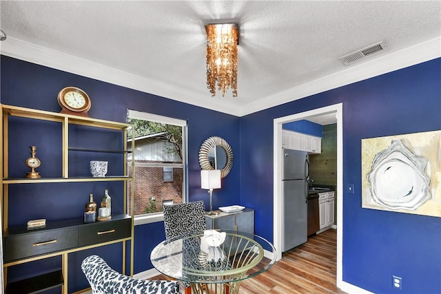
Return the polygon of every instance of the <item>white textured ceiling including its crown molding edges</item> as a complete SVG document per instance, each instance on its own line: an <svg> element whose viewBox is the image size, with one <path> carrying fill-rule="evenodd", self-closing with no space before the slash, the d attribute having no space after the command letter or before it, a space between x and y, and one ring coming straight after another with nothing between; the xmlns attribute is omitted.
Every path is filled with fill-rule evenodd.
<svg viewBox="0 0 441 294"><path fill-rule="evenodd" d="M240 116L395 70L380 67L418 44L435 40L427 59L440 56L440 3L2 0L0 45L8 56ZM239 26L236 98L207 90L204 25L216 22ZM338 60L379 41L389 50L350 66Z"/></svg>

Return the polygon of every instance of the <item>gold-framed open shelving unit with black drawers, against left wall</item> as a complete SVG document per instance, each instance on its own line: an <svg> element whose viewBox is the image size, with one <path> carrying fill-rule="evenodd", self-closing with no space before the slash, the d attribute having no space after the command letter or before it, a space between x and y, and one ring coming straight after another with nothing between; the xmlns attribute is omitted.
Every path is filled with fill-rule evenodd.
<svg viewBox="0 0 441 294"><path fill-rule="evenodd" d="M3 223L3 270L4 270L4 288L6 293L38 293L47 289L61 286L62 293L68 293L68 255L76 251L92 249L108 244L122 243L123 252L121 252L123 260L123 272L125 272L125 257L130 256L130 275L133 275L133 236L134 236L134 216L126 214L127 204L130 202L130 211L134 209L133 199L133 172L129 175L129 167L127 167L127 154L131 151L127 148L127 134L132 132L134 128L127 123L118 123L109 120L99 120L84 116L75 116L71 114L45 112L37 109L29 109L24 107L16 107L10 105L1 105L2 117L1 129L3 130L3 148L1 149L0 159L3 162L3 168L0 171L0 181L3 189L1 194L1 204L3 207L2 223ZM13 126L13 127L12 127ZM21 127L17 127L21 126ZM20 164L17 156L14 156L14 149L21 148L23 145L23 137L25 137L25 129L32 127L39 128L39 134L43 134L44 140L53 142L53 148L50 149L54 162L61 162L57 166L54 162L46 165L46 167L58 167L58 169L50 177L44 174L41 178L25 178L21 174L17 174L14 167ZM47 127L50 129L48 131ZM25 129L23 129L25 128ZM16 132L19 129L20 132ZM12 132L11 130L14 130ZM85 136L88 132L93 132L95 136L105 134L110 138L114 145L112 148L105 145L104 148L94 148L98 144L97 140L88 140L90 136ZM37 140L38 139L34 139ZM40 141L41 142L41 141ZM134 141L132 141L132 150L134 150ZM59 145L57 145L57 143ZM94 144L91 144L94 143ZM109 144L109 143L107 143ZM101 145L100 145L101 146ZM113 149L114 146L116 149ZM28 147L25 145L25 147ZM107 148L106 148L107 147ZM92 154L92 155L88 155ZM90 174L90 170L85 168L91 156L102 156L110 158L116 174L112 176L104 176L94 178ZM34 154L32 154L34 155ZM38 156L38 150L37 150ZM45 161L46 163L48 161ZM122 164L120 165L120 162ZM118 163L118 164L115 164ZM32 169L33 170L33 169ZM132 171L134 170L134 162L132 162ZM46 169L48 171L48 169ZM30 173L28 173L30 174ZM34 198L28 202L28 205L39 209L38 202L47 200L48 198L62 198L63 185L74 183L76 187L81 185L93 185L106 187L110 183L116 183L122 191L130 190L130 201L127 199L127 193L121 195L112 195L114 201L119 202L118 212L113 213L110 220L101 222L84 223L83 213L72 219L56 219L46 222L45 227L41 229L29 230L27 225L21 222L10 225L9 218L14 216L11 208L10 200L23 198L24 195L17 193L17 187L31 187L28 191L38 191L42 186L49 187L52 185L53 192L46 195L45 198ZM59 190L57 190L58 187ZM89 186L88 186L89 187ZM102 189L104 191L104 189ZM37 192L35 192L37 193ZM86 199L87 196L85 196ZM101 197L100 197L101 198ZM71 199L65 199L69 204ZM99 197L95 198L98 203ZM17 203L17 202L15 202ZM50 202L48 202L50 203ZM13 210L12 210L13 211ZM121 213L122 211L122 213ZM42 210L40 215L50 216L50 212ZM17 221L16 221L17 222ZM127 241L130 241L130 254L128 254ZM45 258L61 256L61 264L59 270L50 273L34 273L34 276L8 283L8 268L28 262L35 262ZM32 275L32 273L28 274Z"/></svg>

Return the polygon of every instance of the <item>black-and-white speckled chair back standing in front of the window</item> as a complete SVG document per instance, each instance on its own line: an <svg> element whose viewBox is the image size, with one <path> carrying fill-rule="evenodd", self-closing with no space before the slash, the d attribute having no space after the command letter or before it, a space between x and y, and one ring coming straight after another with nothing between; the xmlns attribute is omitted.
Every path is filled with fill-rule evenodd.
<svg viewBox="0 0 441 294"><path fill-rule="evenodd" d="M203 233L205 204L201 201L164 205L165 238Z"/></svg>

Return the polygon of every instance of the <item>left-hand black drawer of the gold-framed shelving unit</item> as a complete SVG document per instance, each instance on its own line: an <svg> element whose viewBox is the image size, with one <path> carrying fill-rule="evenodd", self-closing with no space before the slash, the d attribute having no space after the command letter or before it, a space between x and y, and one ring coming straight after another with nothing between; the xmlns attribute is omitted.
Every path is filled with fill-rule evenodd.
<svg viewBox="0 0 441 294"><path fill-rule="evenodd" d="M5 261L62 251L78 246L78 229L65 228L10 235L5 238Z"/></svg>

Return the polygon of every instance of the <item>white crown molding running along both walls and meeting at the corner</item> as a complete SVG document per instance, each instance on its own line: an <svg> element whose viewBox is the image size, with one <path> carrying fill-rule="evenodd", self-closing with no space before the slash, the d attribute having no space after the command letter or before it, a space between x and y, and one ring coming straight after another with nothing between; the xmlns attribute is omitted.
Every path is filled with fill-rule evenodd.
<svg viewBox="0 0 441 294"><path fill-rule="evenodd" d="M207 99L205 92L203 92L205 91L204 89L201 89L201 92L178 89L174 87L174 85L165 85L158 81L152 81L142 76L116 70L112 67L80 59L76 56L34 45L10 36L8 36L8 39L5 41L1 41L0 52L3 55L23 61L79 74L114 85L121 85L141 92L170 98L175 101L190 103L235 116L245 116L289 101L436 59L441 56L441 36L413 45L409 48L404 48L398 52L391 52L391 50L389 50L391 53L385 52L385 54L378 54L378 56L372 57L371 59L354 63L341 72L298 85L284 92L266 97L256 97L255 101L247 105L242 105L241 107L225 103L222 99Z"/></svg>

